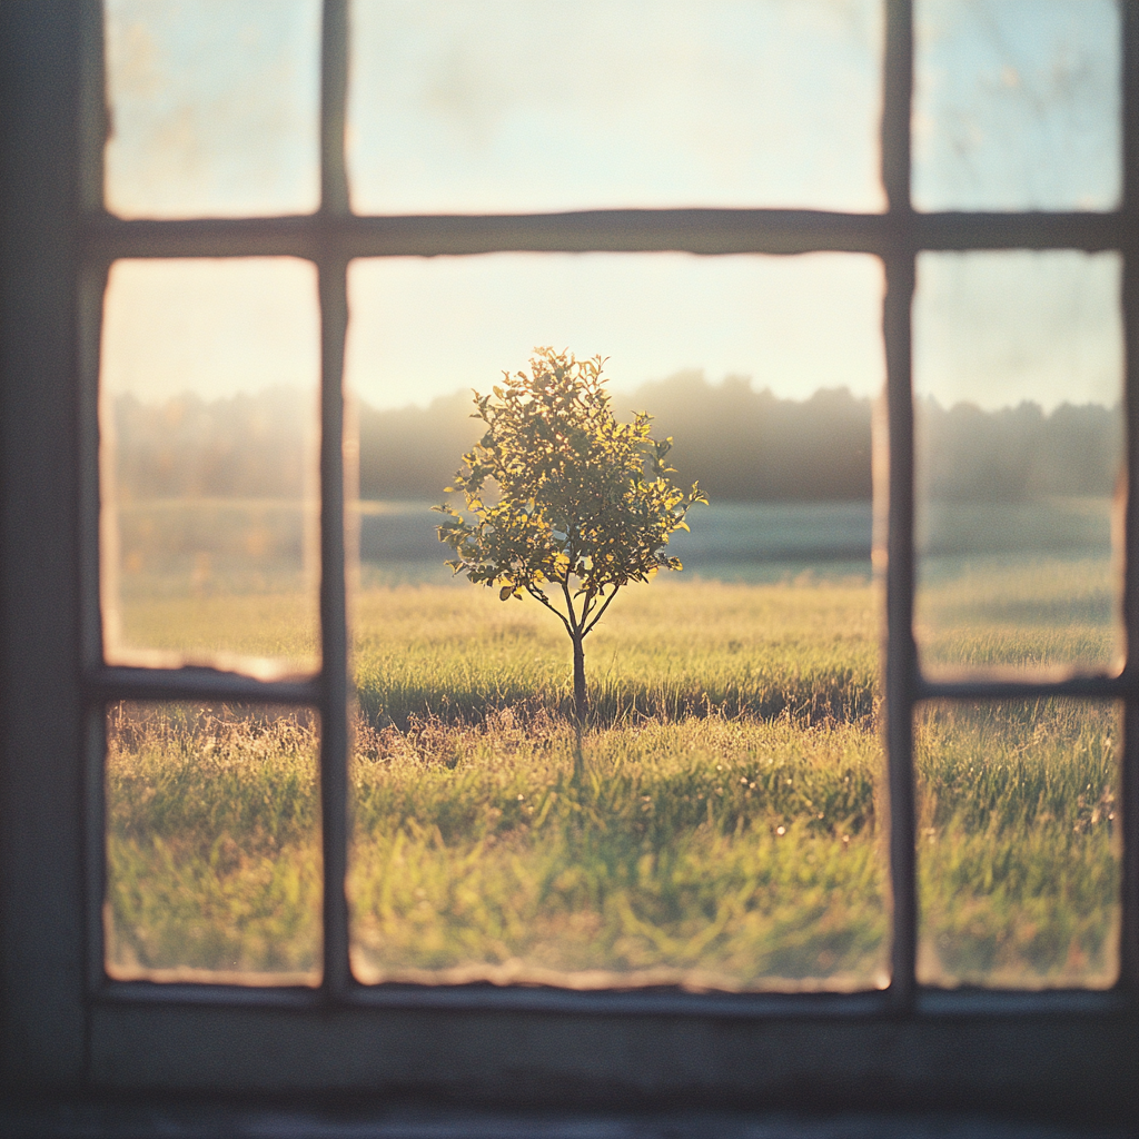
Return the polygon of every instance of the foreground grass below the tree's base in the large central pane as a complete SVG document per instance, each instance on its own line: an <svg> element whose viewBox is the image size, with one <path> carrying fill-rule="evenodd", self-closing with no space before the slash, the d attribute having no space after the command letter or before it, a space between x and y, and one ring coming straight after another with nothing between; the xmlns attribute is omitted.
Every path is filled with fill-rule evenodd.
<svg viewBox="0 0 1139 1139"><path fill-rule="evenodd" d="M511 713L370 734L351 893L368 980L872 985L872 735Z"/></svg>

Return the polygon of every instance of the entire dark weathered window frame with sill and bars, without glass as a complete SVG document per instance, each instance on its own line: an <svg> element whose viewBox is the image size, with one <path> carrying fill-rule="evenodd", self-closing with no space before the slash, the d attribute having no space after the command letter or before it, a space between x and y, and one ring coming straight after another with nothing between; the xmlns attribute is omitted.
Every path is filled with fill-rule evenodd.
<svg viewBox="0 0 1139 1139"><path fill-rule="evenodd" d="M934 15L937 10L948 9L931 5ZM1124 142L1117 206L1109 191L1105 200L1096 197L1096 187L1082 185L1064 189L1057 202L1047 182L1038 181L1013 208L978 191L975 198L961 194L948 202L935 195L921 198L921 205L948 208L916 212L910 199L913 13L896 0L885 14L882 165L887 208L882 213L664 207L358 216L349 207L342 146L347 6L326 0L319 210L280 218L149 221L103 210L99 6L5 5L0 1007L6 1079L22 1089L76 1095L353 1091L530 1107L935 1106L1064 1112L1083 1122L1122 1120L1131 1113L1133 1120L1139 1088L1139 693L1130 665L1139 589L1130 554L1139 523L1133 497L1125 543L1129 663L1121 673L1093 669L1057 679L932 679L919 666L912 632L911 308L918 259L966 251L1113 253L1122 261L1125 367L1134 367L1139 18L1130 6L1122 6L1121 14ZM924 108L934 131L952 114L951 100L945 100ZM1015 120L1009 129L1016 130ZM921 194L924 161L919 150L913 169ZM1112 177L1108 171L1100 182L1109 185ZM311 187L293 189L298 200L311 196ZM1007 212L954 208L974 206ZM1041 212L1029 212L1036 207ZM346 270L355 257L495 251L836 251L869 254L885 267L885 697L894 908L891 983L884 991L759 995L368 989L352 980L341 888L349 740L341 445ZM325 442L321 667L313 680L104 662L98 328L112 263L154 257L288 257L316 265ZM1129 370L1124 407L1132 485L1139 456L1133 388ZM919 980L928 977L919 978L917 952L915 710L935 702L953 708L1038 697L1063 697L1081 708L1105 700L1124 707L1118 982L1104 991L923 986ZM147 984L105 976L99 756L105 706L124 699L269 703L319 715L322 870L331 884L323 893L319 988Z"/></svg>

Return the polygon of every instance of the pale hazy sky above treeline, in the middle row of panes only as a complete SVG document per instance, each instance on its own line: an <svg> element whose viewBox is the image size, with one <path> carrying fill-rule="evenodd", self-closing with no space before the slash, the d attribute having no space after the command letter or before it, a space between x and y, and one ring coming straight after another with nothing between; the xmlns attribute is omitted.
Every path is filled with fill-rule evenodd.
<svg viewBox="0 0 1139 1139"><path fill-rule="evenodd" d="M943 405L1113 407L1122 394L1116 254L924 254L915 386ZM312 388L316 273L295 259L118 262L103 382L164 402ZM350 270L346 382L378 409L427 407L539 344L608 357L615 391L685 370L808 399L877 396L882 269L866 255L494 254L374 259ZM652 409L649 409L652 410Z"/></svg>

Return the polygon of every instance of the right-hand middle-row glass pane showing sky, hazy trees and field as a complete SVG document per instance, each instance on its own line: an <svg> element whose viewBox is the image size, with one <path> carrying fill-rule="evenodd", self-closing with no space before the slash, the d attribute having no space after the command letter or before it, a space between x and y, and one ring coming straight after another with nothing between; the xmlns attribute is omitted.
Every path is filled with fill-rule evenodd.
<svg viewBox="0 0 1139 1139"><path fill-rule="evenodd" d="M1123 460L1116 254L921 254L915 305L923 666L1111 669Z"/></svg>

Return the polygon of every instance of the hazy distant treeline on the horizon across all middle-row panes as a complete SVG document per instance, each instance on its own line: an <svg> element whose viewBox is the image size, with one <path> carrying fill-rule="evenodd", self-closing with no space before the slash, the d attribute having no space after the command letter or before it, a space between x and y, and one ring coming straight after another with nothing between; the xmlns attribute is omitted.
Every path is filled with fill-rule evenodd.
<svg viewBox="0 0 1139 1139"><path fill-rule="evenodd" d="M675 440L677 478L699 480L713 501L869 499L871 403L845 388L808 400L755 392L746 379L708 384L681 372L614 394L618 418L654 417ZM360 492L368 499L439 499L460 456L481 435L469 392L428 408L359 409ZM295 495L314 452L303 425L311 402L286 390L162 407L115 404L123 490L147 497ZM309 420L311 423L311 420ZM1097 404L1034 403L999 411L972 404L917 408L919 477L943 499L1032 499L1111 494L1120 466L1121 416Z"/></svg>

